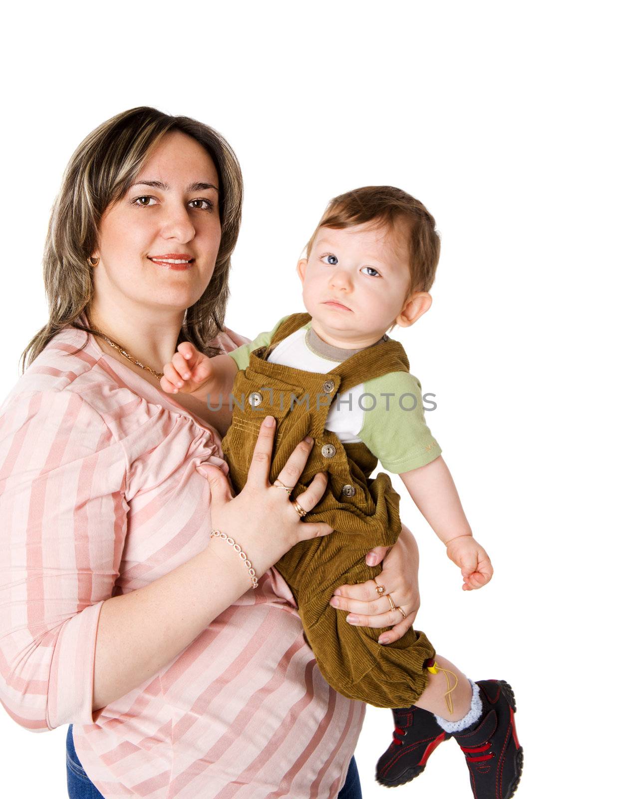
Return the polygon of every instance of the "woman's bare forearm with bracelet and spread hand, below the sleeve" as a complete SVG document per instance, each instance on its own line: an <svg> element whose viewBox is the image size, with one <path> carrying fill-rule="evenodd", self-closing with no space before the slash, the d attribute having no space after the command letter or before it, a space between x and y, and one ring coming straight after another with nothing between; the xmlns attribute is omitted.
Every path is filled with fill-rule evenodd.
<svg viewBox="0 0 640 799"><path fill-rule="evenodd" d="M270 419L272 417L267 417ZM203 464L211 488L211 523L233 535L250 557L256 577L294 544L328 535L324 523L302 523L284 491L268 482L275 426L262 423L247 484L232 498L224 473ZM280 473L294 483L311 451L301 442ZM318 474L298 498L305 510L318 503L327 475ZM200 555L144 588L104 603L98 626L93 710L127 694L189 646L209 622L251 587L237 551L211 539Z"/></svg>

